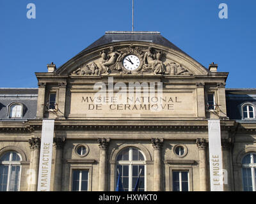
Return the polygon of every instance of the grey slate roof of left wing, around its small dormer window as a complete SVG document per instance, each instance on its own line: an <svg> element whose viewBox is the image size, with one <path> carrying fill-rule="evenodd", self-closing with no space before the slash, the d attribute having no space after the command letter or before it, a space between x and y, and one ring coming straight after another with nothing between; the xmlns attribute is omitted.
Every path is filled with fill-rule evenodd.
<svg viewBox="0 0 256 204"><path fill-rule="evenodd" d="M35 88L0 88L0 121L35 119L38 89ZM8 105L13 102L22 103L23 116L21 119L8 117Z"/></svg>

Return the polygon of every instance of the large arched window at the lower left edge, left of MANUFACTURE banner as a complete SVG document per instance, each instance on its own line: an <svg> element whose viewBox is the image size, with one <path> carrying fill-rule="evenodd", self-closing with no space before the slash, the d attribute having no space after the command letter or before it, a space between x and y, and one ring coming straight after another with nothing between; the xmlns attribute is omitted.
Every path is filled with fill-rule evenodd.
<svg viewBox="0 0 256 204"><path fill-rule="evenodd" d="M6 152L0 158L0 191L19 191L20 155Z"/></svg>

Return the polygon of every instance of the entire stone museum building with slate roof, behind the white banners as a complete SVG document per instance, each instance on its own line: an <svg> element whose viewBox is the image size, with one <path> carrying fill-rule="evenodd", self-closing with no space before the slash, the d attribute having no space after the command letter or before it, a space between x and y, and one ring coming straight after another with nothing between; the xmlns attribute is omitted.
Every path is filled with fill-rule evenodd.
<svg viewBox="0 0 256 204"><path fill-rule="evenodd" d="M51 191L116 191L118 175L125 191L139 175L139 191L210 191L211 119L224 191L255 191L256 89L225 89L218 64L205 68L158 32L109 31L47 69L38 89L0 89L0 191L37 190L47 119Z"/></svg>

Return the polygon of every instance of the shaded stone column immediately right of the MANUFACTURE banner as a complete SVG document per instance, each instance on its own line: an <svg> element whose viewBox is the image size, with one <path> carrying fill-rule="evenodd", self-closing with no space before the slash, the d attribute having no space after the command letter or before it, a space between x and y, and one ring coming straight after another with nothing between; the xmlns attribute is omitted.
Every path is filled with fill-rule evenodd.
<svg viewBox="0 0 256 204"><path fill-rule="evenodd" d="M54 138L53 145L56 148L53 191L61 191L62 184L62 157L65 138Z"/></svg>

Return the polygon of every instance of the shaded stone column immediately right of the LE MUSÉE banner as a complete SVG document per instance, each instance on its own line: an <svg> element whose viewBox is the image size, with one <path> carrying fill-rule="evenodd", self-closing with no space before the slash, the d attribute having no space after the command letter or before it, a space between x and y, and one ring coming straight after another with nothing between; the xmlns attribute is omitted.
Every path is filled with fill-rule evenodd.
<svg viewBox="0 0 256 204"><path fill-rule="evenodd" d="M222 159L223 159L223 170L224 170L224 191L232 191L232 171L231 171L231 164L230 161L230 149L232 143L230 139L223 139L221 140L221 147L222 147Z"/></svg>

